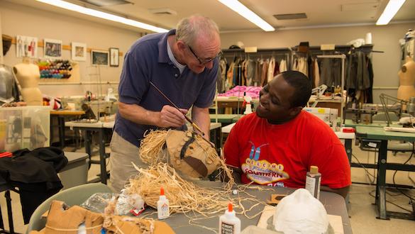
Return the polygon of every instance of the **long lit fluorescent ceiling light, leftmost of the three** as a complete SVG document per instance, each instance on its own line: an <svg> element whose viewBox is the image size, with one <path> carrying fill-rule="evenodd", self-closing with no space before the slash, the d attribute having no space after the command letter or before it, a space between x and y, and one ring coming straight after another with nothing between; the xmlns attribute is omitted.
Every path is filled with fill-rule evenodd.
<svg viewBox="0 0 415 234"><path fill-rule="evenodd" d="M141 23L141 22L138 22L138 21L133 21L131 19L124 18L124 17L121 17L121 16L116 16L116 15L113 15L111 13L96 11L96 10L93 10L93 9L86 8L84 6L79 6L77 4L71 4L67 1L61 1L61 0L36 0L36 1L43 2L44 4L50 4L52 6L57 6L57 7L67 9L67 10L70 10L70 11L77 11L77 12L83 13L85 15L94 16L94 17L97 17L97 18L103 18L103 19L118 22L118 23L123 23L123 24L126 24L128 26L133 26L133 27L136 27L136 28L143 28L143 29L151 30L151 31L157 32L157 33L165 33L165 32L168 31L165 28L158 28L156 26L152 26L152 25L147 24L147 23Z"/></svg>

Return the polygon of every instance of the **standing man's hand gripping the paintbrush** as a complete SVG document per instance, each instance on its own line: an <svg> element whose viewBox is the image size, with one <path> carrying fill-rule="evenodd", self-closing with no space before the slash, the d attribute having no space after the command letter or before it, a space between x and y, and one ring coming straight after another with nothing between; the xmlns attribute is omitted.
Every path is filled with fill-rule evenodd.
<svg viewBox="0 0 415 234"><path fill-rule="evenodd" d="M169 105L163 106L160 111L160 122L157 123L159 127L180 127L186 123L184 115L187 113L186 109L177 110L177 108Z"/></svg>

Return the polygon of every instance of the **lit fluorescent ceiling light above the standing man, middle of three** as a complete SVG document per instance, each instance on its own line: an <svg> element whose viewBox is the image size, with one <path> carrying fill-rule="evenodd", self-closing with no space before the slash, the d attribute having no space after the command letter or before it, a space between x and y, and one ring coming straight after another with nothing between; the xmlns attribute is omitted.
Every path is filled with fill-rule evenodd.
<svg viewBox="0 0 415 234"><path fill-rule="evenodd" d="M218 0L225 6L228 6L228 8L232 9L233 11L236 11L236 13L240 14L240 16L243 16L248 21L251 21L252 23L255 23L256 26L262 28L262 30L265 30L267 32L274 31L275 28L272 27L269 23L265 22L260 16L258 16L256 13L253 13L250 9L248 9L246 6L241 4L237 0Z"/></svg>

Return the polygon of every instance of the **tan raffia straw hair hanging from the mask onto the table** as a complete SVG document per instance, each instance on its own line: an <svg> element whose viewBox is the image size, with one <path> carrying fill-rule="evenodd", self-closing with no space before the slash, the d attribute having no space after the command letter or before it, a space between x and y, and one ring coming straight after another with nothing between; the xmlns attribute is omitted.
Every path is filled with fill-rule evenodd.
<svg viewBox="0 0 415 234"><path fill-rule="evenodd" d="M166 155L162 154L165 145L167 131L153 130L146 133L144 140L140 145L140 158L150 166L147 169L138 168L138 175L130 179L128 191L131 194L140 194L146 204L157 208L157 201L160 196L160 186L165 189L165 195L170 202L171 213L187 213L193 211L201 216L214 216L218 212L226 210L227 204L231 201L239 212L247 218L258 216L248 216L247 212L259 204L265 204L258 201L252 195L246 193L248 185L238 186L234 183L232 170L226 167L221 153L220 162L223 174L229 178L228 183L217 188L207 188L198 186L191 181L183 179L173 167L163 162ZM231 196L232 187L236 186L239 192L248 194L248 198L241 199L240 196ZM260 189L255 187L255 189ZM260 189L262 190L262 189ZM249 209L243 207L242 201L252 201L255 203ZM186 214L187 215L187 214ZM191 218L191 220L195 220Z"/></svg>

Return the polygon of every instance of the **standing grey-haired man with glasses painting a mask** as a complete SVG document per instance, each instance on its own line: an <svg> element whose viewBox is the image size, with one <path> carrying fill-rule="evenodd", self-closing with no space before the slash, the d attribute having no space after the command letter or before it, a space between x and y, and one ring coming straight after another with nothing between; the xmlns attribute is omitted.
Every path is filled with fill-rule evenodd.
<svg viewBox="0 0 415 234"><path fill-rule="evenodd" d="M184 114L192 107L192 121L209 139L209 106L216 91L221 40L218 26L204 16L190 16L167 33L138 39L126 53L119 104L111 138L111 186L123 189L126 180L146 167L138 155L146 130L184 130ZM176 106L173 107L155 87Z"/></svg>

